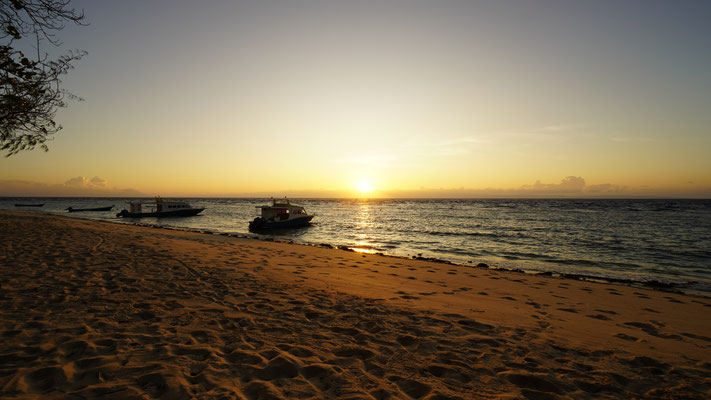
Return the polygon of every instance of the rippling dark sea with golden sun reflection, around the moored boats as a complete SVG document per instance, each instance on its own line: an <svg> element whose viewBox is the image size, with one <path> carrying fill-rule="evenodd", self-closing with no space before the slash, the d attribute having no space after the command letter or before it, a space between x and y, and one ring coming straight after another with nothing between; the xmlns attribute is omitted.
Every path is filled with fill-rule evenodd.
<svg viewBox="0 0 711 400"><path fill-rule="evenodd" d="M268 234L247 229L269 199L190 198L201 215L117 218L128 198L0 198L0 209L294 241L462 265L671 284L711 294L711 200L291 199L316 217ZM135 200L135 199L134 199ZM44 203L41 208L16 203ZM67 213L115 205L111 212Z"/></svg>

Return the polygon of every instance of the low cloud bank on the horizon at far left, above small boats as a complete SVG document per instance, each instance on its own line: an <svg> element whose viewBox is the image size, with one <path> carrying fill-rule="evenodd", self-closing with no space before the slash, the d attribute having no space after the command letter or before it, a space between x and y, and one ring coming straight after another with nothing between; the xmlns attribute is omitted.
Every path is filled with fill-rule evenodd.
<svg viewBox="0 0 711 400"><path fill-rule="evenodd" d="M0 180L3 197L139 197L145 196L134 189L120 189L95 176L68 179L64 183L48 184L21 180Z"/></svg>

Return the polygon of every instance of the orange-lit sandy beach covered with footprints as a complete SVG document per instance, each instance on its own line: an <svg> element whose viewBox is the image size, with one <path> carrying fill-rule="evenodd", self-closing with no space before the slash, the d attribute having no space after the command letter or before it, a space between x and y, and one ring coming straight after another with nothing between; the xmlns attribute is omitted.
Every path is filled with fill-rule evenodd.
<svg viewBox="0 0 711 400"><path fill-rule="evenodd" d="M3 399L711 397L711 299L0 211Z"/></svg>

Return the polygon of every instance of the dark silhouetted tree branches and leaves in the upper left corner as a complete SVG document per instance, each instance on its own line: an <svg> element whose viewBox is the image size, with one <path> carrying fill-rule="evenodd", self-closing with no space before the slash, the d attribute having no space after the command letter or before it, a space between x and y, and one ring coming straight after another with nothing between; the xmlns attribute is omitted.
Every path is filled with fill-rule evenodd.
<svg viewBox="0 0 711 400"><path fill-rule="evenodd" d="M65 23L83 24L84 14L70 0L0 0L0 149L11 156L39 146L62 129L54 121L66 100L77 98L62 89L60 77L86 52L70 51L50 59L43 42L59 46L57 32ZM17 48L34 39L37 54Z"/></svg>

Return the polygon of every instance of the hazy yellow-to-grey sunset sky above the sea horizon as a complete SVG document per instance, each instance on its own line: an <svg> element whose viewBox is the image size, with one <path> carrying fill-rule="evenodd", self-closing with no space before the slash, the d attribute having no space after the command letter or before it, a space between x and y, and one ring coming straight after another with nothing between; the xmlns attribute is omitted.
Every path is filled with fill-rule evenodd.
<svg viewBox="0 0 711 400"><path fill-rule="evenodd" d="M0 196L711 198L708 1L72 1Z"/></svg>

